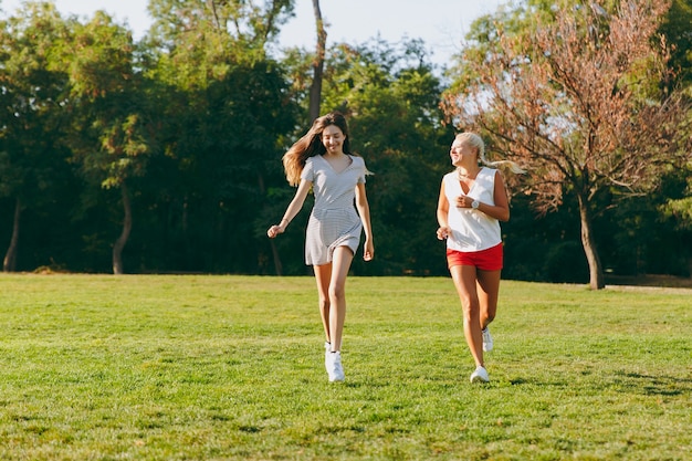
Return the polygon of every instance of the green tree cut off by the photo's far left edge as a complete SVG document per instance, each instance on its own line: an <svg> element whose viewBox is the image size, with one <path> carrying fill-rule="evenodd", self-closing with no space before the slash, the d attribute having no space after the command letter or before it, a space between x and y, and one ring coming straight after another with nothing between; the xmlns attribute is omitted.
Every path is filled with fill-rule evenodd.
<svg viewBox="0 0 692 461"><path fill-rule="evenodd" d="M67 77L51 66L66 33L52 3L27 3L0 24L0 197L14 201L3 271L17 269L23 211L50 202L65 178L59 140Z"/></svg>

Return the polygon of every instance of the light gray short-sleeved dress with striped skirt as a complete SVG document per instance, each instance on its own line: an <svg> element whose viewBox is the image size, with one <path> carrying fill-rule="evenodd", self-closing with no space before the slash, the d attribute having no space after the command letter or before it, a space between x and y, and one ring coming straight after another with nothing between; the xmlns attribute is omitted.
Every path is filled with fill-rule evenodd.
<svg viewBox="0 0 692 461"><path fill-rule="evenodd" d="M315 205L305 235L305 264L332 262L334 249L348 247L354 254L360 242L363 222L355 208L356 186L365 184L361 157L349 156L350 165L336 172L321 155L307 158L301 179L313 184Z"/></svg>

